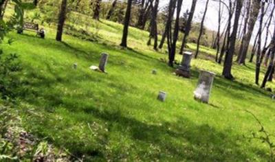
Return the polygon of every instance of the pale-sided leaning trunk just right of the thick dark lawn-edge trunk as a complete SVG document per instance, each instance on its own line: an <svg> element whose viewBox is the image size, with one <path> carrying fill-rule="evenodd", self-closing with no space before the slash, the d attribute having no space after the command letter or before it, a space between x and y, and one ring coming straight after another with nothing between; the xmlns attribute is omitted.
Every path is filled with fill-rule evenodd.
<svg viewBox="0 0 275 162"><path fill-rule="evenodd" d="M250 40L252 38L252 33L254 30L255 23L257 21L259 12L261 9L261 1L253 1L252 12L250 14L250 20L248 21L248 32L243 36L243 44L241 50L239 51L239 64L245 65L245 58L248 53L248 47L250 45Z"/></svg>

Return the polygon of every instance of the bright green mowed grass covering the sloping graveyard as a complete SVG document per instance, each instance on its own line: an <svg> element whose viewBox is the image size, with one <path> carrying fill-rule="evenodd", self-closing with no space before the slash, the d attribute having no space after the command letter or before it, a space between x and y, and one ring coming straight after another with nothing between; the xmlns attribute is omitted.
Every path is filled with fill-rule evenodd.
<svg viewBox="0 0 275 162"><path fill-rule="evenodd" d="M32 32L8 35L16 41L3 51L19 54L28 80L23 89L30 92L20 98L27 130L85 161L267 161L267 146L243 137L260 128L245 110L275 132L275 104L254 86L254 65L234 65L231 82L221 77L221 65L198 58L192 78L179 78L159 59L166 54L146 46L147 32L131 28L131 49L121 49L122 25L87 26L99 43L68 35L58 43L55 27L47 27L45 40ZM108 74L89 69L102 52L109 54ZM199 69L217 73L210 104L193 99ZM159 91L168 94L166 102L157 100Z"/></svg>

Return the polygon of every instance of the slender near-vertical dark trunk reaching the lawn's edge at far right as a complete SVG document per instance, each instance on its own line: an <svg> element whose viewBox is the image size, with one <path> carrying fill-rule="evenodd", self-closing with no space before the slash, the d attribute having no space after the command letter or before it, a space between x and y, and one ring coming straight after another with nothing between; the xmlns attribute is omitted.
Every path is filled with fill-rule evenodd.
<svg viewBox="0 0 275 162"><path fill-rule="evenodd" d="M263 27L263 17L265 16L265 3L261 2L261 19L260 19L260 27L259 27L259 38L258 38L258 49L257 49L257 57L256 57L256 73L255 73L255 83L259 84L259 76L261 70L261 30Z"/></svg>

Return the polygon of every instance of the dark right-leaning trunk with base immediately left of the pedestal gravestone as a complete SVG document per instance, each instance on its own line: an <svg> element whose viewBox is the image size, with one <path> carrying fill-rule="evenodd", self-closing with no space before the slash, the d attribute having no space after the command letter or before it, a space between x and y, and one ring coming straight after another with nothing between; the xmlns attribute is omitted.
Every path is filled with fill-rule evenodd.
<svg viewBox="0 0 275 162"><path fill-rule="evenodd" d="M175 30L173 33L173 39L171 42L170 46L170 51L169 51L169 62L168 66L173 67L173 62L175 60L175 53L176 53L176 45L177 45L177 38L179 36L179 16L181 12L181 5L182 5L183 0L177 0L177 16L175 19ZM170 34L172 35L172 34Z"/></svg>

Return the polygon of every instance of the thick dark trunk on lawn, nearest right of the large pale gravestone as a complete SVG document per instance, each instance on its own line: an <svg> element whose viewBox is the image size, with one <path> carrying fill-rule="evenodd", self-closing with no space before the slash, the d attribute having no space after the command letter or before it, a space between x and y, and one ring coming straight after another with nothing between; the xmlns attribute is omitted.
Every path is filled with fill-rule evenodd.
<svg viewBox="0 0 275 162"><path fill-rule="evenodd" d="M236 34L238 32L239 18L241 15L241 8L243 7L243 0L236 1L236 10L232 34L230 36L230 47L228 53L225 55L225 61L223 65L223 76L229 80L234 79L231 73L232 60L236 44Z"/></svg>

